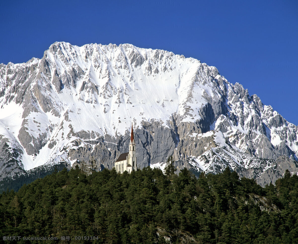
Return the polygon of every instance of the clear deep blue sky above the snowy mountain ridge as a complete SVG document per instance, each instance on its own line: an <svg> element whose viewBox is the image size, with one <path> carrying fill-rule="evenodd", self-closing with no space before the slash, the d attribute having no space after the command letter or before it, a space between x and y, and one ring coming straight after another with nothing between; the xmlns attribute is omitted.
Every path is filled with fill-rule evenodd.
<svg viewBox="0 0 298 244"><path fill-rule="evenodd" d="M298 125L298 1L1 1L0 63L55 41L131 43L194 57Z"/></svg>

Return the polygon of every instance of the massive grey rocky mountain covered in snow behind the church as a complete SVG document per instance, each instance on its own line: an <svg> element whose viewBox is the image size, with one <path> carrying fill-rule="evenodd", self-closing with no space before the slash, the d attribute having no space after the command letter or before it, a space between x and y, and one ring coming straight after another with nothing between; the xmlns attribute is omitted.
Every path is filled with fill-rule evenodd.
<svg viewBox="0 0 298 244"><path fill-rule="evenodd" d="M163 168L173 155L180 169L229 166L264 184L268 172L283 174L272 167L286 156L280 164L298 172L297 126L194 58L56 42L41 59L0 64L1 178L92 157L97 170L112 168L128 150L131 123L139 168Z"/></svg>

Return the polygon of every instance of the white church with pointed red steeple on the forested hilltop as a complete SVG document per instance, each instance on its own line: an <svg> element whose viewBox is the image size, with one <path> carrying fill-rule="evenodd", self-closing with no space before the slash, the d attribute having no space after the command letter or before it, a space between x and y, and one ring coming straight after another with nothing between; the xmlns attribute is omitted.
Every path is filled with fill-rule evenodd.
<svg viewBox="0 0 298 244"><path fill-rule="evenodd" d="M136 170L136 143L134 142L134 132L131 125L131 141L129 143L129 152L122 153L115 162L117 173L122 174L125 170L130 173Z"/></svg>

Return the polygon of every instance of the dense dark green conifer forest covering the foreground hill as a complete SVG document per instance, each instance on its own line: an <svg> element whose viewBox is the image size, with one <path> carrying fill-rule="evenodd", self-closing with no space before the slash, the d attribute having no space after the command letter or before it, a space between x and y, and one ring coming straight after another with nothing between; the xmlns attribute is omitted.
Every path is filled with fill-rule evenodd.
<svg viewBox="0 0 298 244"><path fill-rule="evenodd" d="M289 172L262 188L229 169L199 178L187 169L167 176L150 167L122 175L63 169L1 194L1 241L298 243L297 199L298 177ZM58 240L2 240L12 236Z"/></svg>

